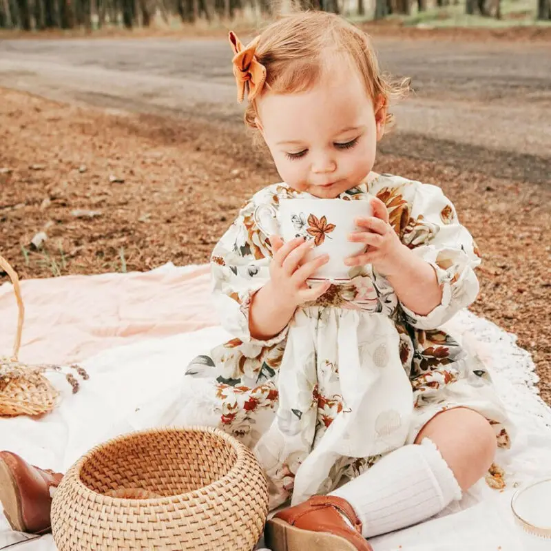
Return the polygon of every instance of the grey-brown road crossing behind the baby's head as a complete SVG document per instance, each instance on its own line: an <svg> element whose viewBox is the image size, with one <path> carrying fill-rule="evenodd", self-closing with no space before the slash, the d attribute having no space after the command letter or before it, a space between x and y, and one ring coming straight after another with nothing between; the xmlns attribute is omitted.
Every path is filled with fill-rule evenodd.
<svg viewBox="0 0 551 551"><path fill-rule="evenodd" d="M388 153L545 182L551 174L551 49L545 43L380 38L383 67L411 76ZM0 85L67 102L238 121L220 39L0 42Z"/></svg>

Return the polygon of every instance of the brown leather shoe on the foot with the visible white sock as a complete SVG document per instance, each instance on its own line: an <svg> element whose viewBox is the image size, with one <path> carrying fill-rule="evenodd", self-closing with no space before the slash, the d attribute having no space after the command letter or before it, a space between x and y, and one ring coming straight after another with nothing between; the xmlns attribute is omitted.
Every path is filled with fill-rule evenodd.
<svg viewBox="0 0 551 551"><path fill-rule="evenodd" d="M333 495L317 495L278 512L264 535L272 551L373 551L350 503Z"/></svg>

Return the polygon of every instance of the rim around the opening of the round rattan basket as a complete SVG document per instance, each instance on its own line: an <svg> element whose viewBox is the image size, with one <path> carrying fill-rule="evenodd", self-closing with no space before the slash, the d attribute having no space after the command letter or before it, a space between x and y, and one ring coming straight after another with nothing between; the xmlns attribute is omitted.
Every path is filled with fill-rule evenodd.
<svg viewBox="0 0 551 551"><path fill-rule="evenodd" d="M211 435L216 435L218 437L221 437L224 439L235 451L237 454L236 463L233 465L233 467L220 479L215 480L214 482L211 482L208 486L202 486L201 488L198 488L197 490L192 490L191 492L184 492L181 494L175 494L170 496L162 496L162 497L149 497L147 499L132 499L127 497L112 497L108 495L101 494L99 492L94 492L94 490L90 489L88 486L86 486L82 479L81 479L81 470L83 468L83 465L85 464L85 461L90 459L94 453L96 453L101 448L104 448L105 446L109 446L110 444L115 444L117 442L121 442L130 438L145 436L145 435L152 435L152 434L158 434L158 433L176 433L176 432L194 432L194 433L208 433ZM94 448L87 451L85 455L83 455L72 467L70 467L70 471L67 471L67 474L71 472L71 475L74 477L73 484L76 484L80 487L80 492L85 499L89 499L91 496L94 496L94 499L99 500L101 502L109 502L113 504L127 504L127 503L140 503L141 505L151 505L153 503L162 504L162 503L171 503L172 501L177 501L182 496L189 497L189 500L192 499L198 499L200 497L199 492L205 492L209 490L215 490L216 488L220 488L225 486L227 481L231 479L231 477L235 476L236 473L240 470L240 467L245 462L245 455L251 455L255 461L258 461L256 457L251 453L249 448L247 448L244 444L241 444L238 439L235 437L225 433L223 430L220 430L216 427L210 427L210 426L189 426L189 427L182 427L182 426L165 426L160 428L149 428L145 430L134 430L131 433L125 433L123 435L111 438L109 440L106 440L104 442L101 442L101 444L96 444ZM259 465L259 470L262 472L262 475L264 475L264 470L262 470L262 467Z"/></svg>

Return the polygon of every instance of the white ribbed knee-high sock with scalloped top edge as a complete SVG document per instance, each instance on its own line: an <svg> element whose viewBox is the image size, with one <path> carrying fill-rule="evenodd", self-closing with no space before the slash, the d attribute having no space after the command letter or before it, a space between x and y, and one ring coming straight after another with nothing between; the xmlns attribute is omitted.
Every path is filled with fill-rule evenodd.
<svg viewBox="0 0 551 551"><path fill-rule="evenodd" d="M351 504L367 538L433 517L461 499L461 488L433 441L424 438L389 453L331 495Z"/></svg>

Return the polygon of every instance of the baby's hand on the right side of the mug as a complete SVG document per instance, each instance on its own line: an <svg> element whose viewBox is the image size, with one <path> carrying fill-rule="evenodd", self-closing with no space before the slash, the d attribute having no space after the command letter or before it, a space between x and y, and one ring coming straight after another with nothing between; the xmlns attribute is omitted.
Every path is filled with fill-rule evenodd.
<svg viewBox="0 0 551 551"><path fill-rule="evenodd" d="M350 234L349 240L366 244L364 253L350 256L346 259L348 266L364 266L372 264L376 271L383 275L393 273L403 265L404 257L409 249L402 244L388 223L388 210L382 200L371 200L373 216L357 218L356 225L362 228Z"/></svg>

